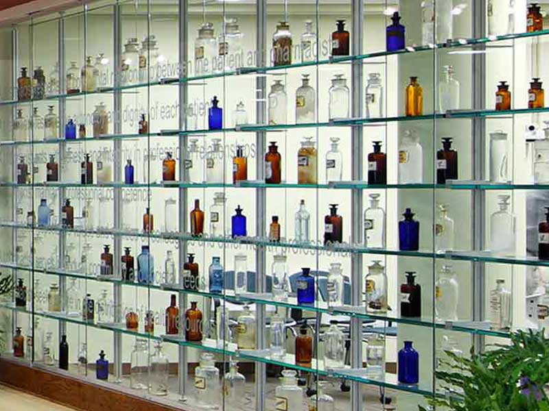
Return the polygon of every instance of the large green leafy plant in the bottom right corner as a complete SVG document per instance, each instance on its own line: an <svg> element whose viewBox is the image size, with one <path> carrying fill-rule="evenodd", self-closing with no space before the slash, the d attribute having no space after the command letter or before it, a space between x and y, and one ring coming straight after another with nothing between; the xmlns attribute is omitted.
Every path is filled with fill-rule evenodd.
<svg viewBox="0 0 549 411"><path fill-rule="evenodd" d="M549 411L545 386L549 383L549 340L544 330L518 331L511 344L471 358L446 351L441 364L452 371L435 376L449 395L428 397L432 408L453 411ZM421 411L428 408L419 406Z"/></svg>

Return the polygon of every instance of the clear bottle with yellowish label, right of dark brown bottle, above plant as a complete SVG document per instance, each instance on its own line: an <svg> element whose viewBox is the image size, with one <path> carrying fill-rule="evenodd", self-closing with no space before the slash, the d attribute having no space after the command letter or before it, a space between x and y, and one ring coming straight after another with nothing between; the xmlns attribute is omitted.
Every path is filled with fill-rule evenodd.
<svg viewBox="0 0 549 411"><path fill-rule="evenodd" d="M459 284L451 265L443 265L434 284L434 312L437 321L458 320Z"/></svg>

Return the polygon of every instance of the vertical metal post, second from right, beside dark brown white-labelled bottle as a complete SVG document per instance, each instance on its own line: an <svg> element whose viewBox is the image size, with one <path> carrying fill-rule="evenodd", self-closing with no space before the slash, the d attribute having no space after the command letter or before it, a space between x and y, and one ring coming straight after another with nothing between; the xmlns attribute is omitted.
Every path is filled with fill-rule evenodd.
<svg viewBox="0 0 549 411"><path fill-rule="evenodd" d="M353 55L362 54L362 19L364 16L364 2L362 0L352 1L353 9L353 33L351 34ZM353 117L362 116L363 99L363 73L362 60L353 60L351 66L351 103ZM351 128L351 153L353 153L351 164L351 177L353 180L362 180L362 125L355 125ZM351 192L351 243L362 243L362 190L353 188ZM362 254L353 253L351 256L351 304L359 306L362 303ZM362 368L362 320L351 317L351 368ZM351 384L351 409L362 410L362 396L360 395L358 382Z"/></svg>

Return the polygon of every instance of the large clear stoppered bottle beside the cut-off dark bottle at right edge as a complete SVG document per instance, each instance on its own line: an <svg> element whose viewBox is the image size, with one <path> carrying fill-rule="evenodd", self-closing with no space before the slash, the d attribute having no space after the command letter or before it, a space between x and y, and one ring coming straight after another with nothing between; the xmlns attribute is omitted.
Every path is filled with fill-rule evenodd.
<svg viewBox="0 0 549 411"><path fill-rule="evenodd" d="M510 195L498 195L500 210L490 216L490 251L495 254L514 256L516 216L509 212Z"/></svg>

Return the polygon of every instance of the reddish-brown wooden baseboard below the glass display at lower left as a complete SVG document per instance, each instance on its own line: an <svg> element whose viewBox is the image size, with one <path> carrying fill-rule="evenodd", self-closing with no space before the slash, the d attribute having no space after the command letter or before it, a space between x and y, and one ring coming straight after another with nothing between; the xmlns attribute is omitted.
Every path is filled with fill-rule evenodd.
<svg viewBox="0 0 549 411"><path fill-rule="evenodd" d="M64 406L86 411L191 411L148 401L100 384L0 357L0 382ZM0 407L1 408L1 407Z"/></svg>

